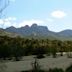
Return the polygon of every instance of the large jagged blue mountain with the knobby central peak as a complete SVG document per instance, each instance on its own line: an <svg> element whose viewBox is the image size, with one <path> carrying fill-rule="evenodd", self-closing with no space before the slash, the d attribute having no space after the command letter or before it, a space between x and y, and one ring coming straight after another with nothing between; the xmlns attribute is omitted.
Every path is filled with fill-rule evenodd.
<svg viewBox="0 0 72 72"><path fill-rule="evenodd" d="M4 29L4 31L9 33L16 33L23 37L31 38L48 38L55 39L55 32L49 31L46 26L38 26L36 23L32 24L31 27L28 25L20 28L15 28L13 26Z"/></svg>

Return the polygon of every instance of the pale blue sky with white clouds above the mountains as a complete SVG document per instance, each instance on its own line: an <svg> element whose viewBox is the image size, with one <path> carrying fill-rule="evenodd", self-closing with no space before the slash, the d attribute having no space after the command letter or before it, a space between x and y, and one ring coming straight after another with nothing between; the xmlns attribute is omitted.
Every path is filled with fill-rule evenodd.
<svg viewBox="0 0 72 72"><path fill-rule="evenodd" d="M72 29L72 0L10 0L3 14L3 28L37 23L55 32Z"/></svg>

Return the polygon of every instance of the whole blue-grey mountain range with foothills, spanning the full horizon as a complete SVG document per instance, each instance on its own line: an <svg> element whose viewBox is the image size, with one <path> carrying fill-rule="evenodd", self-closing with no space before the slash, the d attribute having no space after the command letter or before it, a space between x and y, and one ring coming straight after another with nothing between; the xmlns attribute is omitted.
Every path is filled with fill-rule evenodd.
<svg viewBox="0 0 72 72"><path fill-rule="evenodd" d="M61 32L50 31L46 26L38 26L33 24L31 27L28 25L20 28L15 28L13 26L6 29L0 30L0 35L8 36L22 36L26 38L48 38L48 39L59 39L59 40L72 40L72 30L64 30Z"/></svg>

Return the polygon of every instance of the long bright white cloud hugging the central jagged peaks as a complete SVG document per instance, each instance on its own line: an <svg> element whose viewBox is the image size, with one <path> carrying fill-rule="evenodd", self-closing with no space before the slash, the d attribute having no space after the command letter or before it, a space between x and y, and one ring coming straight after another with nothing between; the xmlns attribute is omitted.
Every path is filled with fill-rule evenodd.
<svg viewBox="0 0 72 72"><path fill-rule="evenodd" d="M42 20L34 20L34 19L32 19L32 20L25 20L25 21L19 23L19 27L25 26L25 25L31 26L33 23L37 23L38 25L40 25L40 24L43 24L44 21L42 21Z"/></svg>

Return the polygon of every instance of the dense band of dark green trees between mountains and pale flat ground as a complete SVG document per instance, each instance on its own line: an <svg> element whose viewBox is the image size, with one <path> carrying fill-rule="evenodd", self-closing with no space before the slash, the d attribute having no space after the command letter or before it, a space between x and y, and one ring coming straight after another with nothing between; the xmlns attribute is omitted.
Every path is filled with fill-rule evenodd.
<svg viewBox="0 0 72 72"><path fill-rule="evenodd" d="M72 41L60 41L49 39L27 39L27 38L11 38L8 36L0 36L0 59L15 58L18 60L26 55L52 55L56 57L56 53L72 51Z"/></svg>

